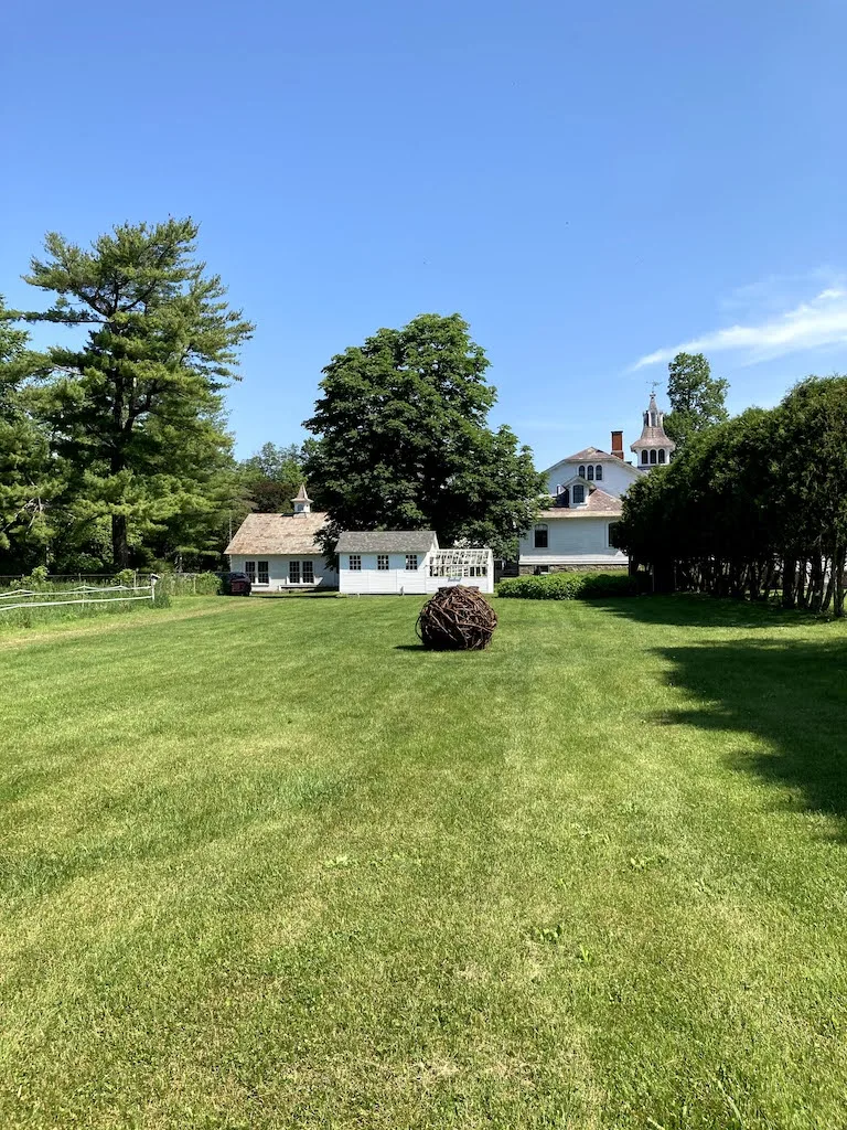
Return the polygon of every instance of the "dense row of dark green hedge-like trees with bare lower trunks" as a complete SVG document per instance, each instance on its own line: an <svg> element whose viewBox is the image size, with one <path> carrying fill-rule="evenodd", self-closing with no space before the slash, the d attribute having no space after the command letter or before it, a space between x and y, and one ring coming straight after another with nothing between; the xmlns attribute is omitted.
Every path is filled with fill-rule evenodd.
<svg viewBox="0 0 847 1130"><path fill-rule="evenodd" d="M657 591L844 616L847 376L810 376L772 409L691 437L628 492L615 541Z"/></svg>

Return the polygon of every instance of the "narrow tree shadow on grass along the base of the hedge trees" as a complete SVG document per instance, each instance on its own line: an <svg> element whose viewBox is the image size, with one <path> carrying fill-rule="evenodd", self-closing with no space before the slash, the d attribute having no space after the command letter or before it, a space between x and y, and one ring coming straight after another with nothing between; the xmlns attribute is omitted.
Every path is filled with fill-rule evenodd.
<svg viewBox="0 0 847 1130"><path fill-rule="evenodd" d="M820 624L821 617L802 610L786 610L776 605L751 603L699 593L673 597L620 597L593 600L612 612L641 624L673 624L704 628L772 628L800 624Z"/></svg>

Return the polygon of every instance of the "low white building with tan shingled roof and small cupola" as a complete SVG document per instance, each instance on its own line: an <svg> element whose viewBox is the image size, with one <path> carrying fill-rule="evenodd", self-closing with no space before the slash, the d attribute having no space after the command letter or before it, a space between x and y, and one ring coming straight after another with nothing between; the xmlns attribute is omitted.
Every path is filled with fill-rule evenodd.
<svg viewBox="0 0 847 1130"><path fill-rule="evenodd" d="M312 512L305 486L292 502L294 514L248 514L226 548L230 570L246 573L254 592L338 586L317 540L326 514Z"/></svg>

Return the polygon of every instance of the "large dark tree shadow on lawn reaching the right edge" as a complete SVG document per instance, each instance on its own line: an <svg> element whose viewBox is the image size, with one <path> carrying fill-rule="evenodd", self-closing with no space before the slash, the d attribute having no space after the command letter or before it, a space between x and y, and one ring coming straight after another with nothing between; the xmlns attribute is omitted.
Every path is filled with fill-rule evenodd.
<svg viewBox="0 0 847 1130"><path fill-rule="evenodd" d="M732 766L789 786L792 807L800 800L847 817L847 640L742 640L656 653L672 664L673 686L699 699L656 721L763 738L769 753L740 753Z"/></svg>

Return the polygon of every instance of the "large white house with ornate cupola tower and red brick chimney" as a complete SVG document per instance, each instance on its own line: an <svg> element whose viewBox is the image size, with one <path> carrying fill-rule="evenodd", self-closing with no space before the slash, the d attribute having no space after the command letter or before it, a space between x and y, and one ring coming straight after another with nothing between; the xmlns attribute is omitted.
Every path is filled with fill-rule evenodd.
<svg viewBox="0 0 847 1130"><path fill-rule="evenodd" d="M630 446L636 462L623 457L623 433L612 432L612 450L585 447L549 467L549 495L532 529L521 536L522 574L626 566L614 546L621 496L645 471L671 461L675 444L664 429L655 395L644 414L641 435Z"/></svg>

